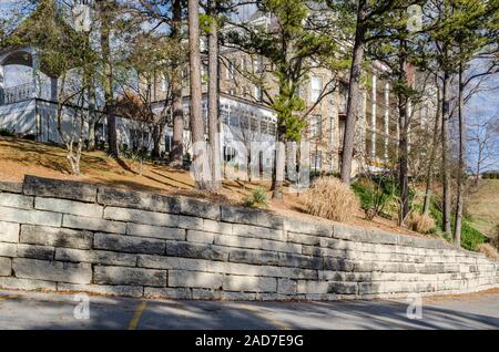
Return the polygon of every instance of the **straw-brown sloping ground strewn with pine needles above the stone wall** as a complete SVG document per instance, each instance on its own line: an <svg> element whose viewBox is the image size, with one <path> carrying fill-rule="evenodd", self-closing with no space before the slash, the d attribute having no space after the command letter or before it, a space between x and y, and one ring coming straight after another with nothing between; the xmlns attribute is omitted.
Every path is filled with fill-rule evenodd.
<svg viewBox="0 0 499 352"><path fill-rule="evenodd" d="M141 168L142 172L140 172ZM24 175L35 175L90 182L149 193L184 195L233 205L243 204L244 196L251 194L252 189L257 187L269 188L268 182L224 180L221 191L216 194L202 193L194 189L194 182L189 172L149 162L141 167L136 162L110 158L103 152L84 152L81 159L81 172L82 176L80 177L71 175L69 163L65 159L65 149L61 146L0 137L0 180L22 182ZM294 218L310 219L324 224L333 222L304 214L299 195L296 194L285 194L284 200L281 201L271 200L269 210ZM347 224L425 237L406 228L400 228L394 221L385 218L377 217L371 221L366 220L360 210Z"/></svg>

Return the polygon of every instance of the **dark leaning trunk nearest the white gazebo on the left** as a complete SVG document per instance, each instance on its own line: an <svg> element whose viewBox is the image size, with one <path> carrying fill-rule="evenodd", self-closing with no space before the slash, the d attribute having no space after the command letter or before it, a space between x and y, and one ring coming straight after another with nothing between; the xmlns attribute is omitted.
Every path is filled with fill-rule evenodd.
<svg viewBox="0 0 499 352"><path fill-rule="evenodd" d="M109 18L109 7L106 3L101 6L101 50L102 50L102 63L104 74L104 100L105 100L105 116L108 120L108 153L111 156L118 157L118 135L116 135L116 116L114 115L114 99L113 99L113 72L111 64L111 35L110 25L111 19Z"/></svg>

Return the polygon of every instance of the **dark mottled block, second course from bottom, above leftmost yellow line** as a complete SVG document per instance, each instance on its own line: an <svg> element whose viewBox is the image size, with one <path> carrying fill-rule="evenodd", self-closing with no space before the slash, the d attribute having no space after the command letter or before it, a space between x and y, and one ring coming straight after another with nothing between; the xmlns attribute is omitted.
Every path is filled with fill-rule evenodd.
<svg viewBox="0 0 499 352"><path fill-rule="evenodd" d="M166 270L101 266L93 269L94 283L165 287L166 278Z"/></svg>

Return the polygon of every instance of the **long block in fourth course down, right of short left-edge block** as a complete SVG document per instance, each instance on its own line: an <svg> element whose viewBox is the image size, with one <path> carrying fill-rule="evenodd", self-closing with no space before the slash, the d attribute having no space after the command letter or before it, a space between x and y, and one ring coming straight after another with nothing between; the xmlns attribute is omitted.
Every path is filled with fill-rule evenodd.
<svg viewBox="0 0 499 352"><path fill-rule="evenodd" d="M20 242L22 244L90 249L92 240L93 235L89 231L45 226L21 226Z"/></svg>

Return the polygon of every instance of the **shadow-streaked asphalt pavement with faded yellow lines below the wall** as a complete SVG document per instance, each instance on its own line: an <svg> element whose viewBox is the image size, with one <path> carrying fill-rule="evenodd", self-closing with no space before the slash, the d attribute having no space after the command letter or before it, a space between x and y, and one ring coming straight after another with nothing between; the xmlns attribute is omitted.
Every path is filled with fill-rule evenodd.
<svg viewBox="0 0 499 352"><path fill-rule="evenodd" d="M407 308L405 300L86 301L74 294L0 291L0 329L499 329L499 290L424 299L421 319L409 319Z"/></svg>

